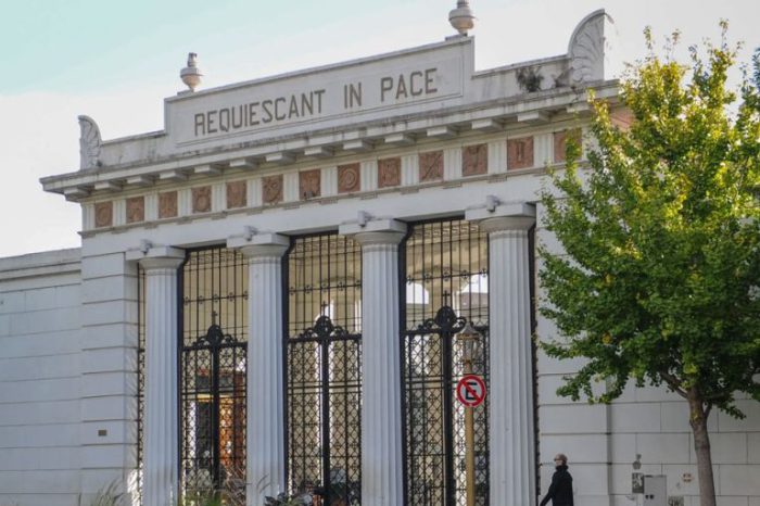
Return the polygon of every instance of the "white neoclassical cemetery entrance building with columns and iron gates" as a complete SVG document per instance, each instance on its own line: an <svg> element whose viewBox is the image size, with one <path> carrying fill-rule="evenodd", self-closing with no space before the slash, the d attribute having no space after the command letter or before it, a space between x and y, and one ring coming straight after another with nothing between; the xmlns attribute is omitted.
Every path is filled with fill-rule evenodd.
<svg viewBox="0 0 760 506"><path fill-rule="evenodd" d="M183 91L163 130L116 140L81 116L80 168L42 180L81 205L81 248L0 260L0 504L84 505L112 482L144 506L315 489L465 504L465 353L487 391L476 504L535 505L559 451L578 504L637 504L634 463L698 504L684 403L558 397L577 364L533 340L553 336L535 308L536 242L557 248L547 167L587 124L588 89L625 121L609 22L585 17L567 54L485 71L458 35ZM745 407L713 417L723 504L760 504Z"/></svg>

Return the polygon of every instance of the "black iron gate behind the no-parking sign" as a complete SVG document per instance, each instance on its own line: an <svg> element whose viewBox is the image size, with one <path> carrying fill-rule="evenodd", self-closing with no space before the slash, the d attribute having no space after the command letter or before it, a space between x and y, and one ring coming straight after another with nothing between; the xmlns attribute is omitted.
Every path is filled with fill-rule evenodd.
<svg viewBox="0 0 760 506"><path fill-rule="evenodd" d="M473 372L489 381L487 237L459 219L409 228L401 250L405 494L410 506L465 505L465 416L456 334L480 333ZM489 504L489 406L474 412L476 504Z"/></svg>

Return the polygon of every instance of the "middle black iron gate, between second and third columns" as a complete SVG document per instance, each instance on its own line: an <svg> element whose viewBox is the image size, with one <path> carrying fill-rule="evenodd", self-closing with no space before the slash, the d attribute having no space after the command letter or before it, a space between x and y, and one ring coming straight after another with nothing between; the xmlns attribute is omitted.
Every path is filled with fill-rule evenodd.
<svg viewBox="0 0 760 506"><path fill-rule="evenodd" d="M325 505L360 497L362 251L351 239L293 240L284 339L288 481Z"/></svg>

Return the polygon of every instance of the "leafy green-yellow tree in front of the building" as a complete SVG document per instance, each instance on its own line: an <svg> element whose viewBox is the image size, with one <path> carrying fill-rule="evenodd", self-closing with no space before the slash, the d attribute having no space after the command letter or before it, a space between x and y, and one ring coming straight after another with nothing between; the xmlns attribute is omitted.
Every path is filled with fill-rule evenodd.
<svg viewBox="0 0 760 506"><path fill-rule="evenodd" d="M760 109L748 78L726 84L737 49L721 26L691 65L659 56L645 31L648 55L621 83L629 127L590 99L587 163L570 142L542 193L565 252L539 250L541 313L559 330L542 347L585 358L558 393L608 403L633 380L683 396L702 506L715 504L711 409L743 417L737 394L760 400Z"/></svg>

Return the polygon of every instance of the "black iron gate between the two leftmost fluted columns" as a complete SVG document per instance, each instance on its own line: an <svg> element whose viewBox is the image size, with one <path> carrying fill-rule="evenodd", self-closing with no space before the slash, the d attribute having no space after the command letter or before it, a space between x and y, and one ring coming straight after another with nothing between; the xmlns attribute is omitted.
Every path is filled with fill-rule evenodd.
<svg viewBox="0 0 760 506"><path fill-rule="evenodd" d="M245 504L248 266L223 248L182 267L180 465L182 493ZM207 326L207 327L206 327Z"/></svg>

